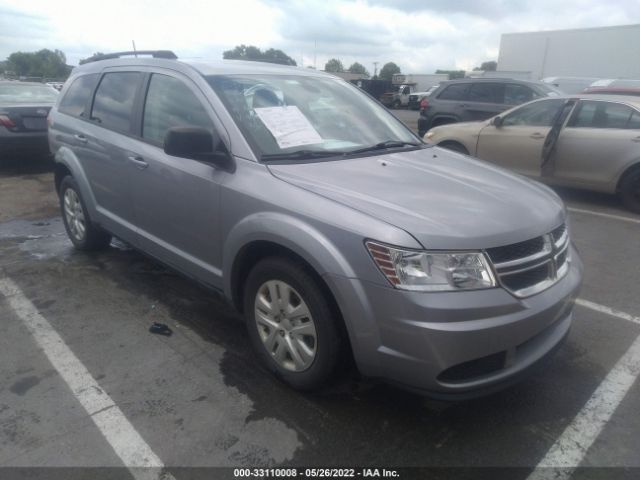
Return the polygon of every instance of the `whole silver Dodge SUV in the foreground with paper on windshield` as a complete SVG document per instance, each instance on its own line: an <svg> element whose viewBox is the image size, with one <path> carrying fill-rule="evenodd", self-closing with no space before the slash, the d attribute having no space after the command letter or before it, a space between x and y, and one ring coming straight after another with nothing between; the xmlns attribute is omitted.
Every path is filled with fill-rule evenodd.
<svg viewBox="0 0 640 480"><path fill-rule="evenodd" d="M117 236L223 292L298 389L352 356L477 395L565 338L582 264L547 187L422 143L334 76L151 54L75 69L51 111L78 249Z"/></svg>

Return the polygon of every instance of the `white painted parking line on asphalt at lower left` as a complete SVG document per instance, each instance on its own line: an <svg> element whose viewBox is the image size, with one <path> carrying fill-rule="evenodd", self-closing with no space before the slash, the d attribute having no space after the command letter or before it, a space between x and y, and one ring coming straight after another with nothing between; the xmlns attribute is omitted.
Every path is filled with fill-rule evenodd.
<svg viewBox="0 0 640 480"><path fill-rule="evenodd" d="M9 278L0 278L0 293L22 320L102 435L137 479L157 479L164 465L105 393L87 368ZM153 467L153 468L139 468ZM167 478L166 474L162 476Z"/></svg>

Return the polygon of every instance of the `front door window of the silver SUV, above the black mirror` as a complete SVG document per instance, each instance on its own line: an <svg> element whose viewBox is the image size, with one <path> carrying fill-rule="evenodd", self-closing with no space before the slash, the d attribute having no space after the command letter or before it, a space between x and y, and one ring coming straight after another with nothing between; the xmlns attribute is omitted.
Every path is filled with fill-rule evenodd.
<svg viewBox="0 0 640 480"><path fill-rule="evenodd" d="M169 128L184 126L213 129L204 106L184 82L153 74L145 100L142 137L162 144Z"/></svg>

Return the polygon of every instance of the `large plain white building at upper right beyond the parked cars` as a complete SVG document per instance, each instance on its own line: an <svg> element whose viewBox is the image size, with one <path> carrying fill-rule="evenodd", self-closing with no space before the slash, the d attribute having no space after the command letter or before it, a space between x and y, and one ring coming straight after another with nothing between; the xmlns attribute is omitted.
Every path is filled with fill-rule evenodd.
<svg viewBox="0 0 640 480"><path fill-rule="evenodd" d="M498 70L545 77L640 79L640 25L505 33Z"/></svg>

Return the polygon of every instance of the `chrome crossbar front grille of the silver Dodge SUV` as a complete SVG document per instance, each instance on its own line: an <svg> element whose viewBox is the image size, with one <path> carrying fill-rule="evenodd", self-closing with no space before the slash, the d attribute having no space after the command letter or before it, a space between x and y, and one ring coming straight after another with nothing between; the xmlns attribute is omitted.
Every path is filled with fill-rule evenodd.
<svg viewBox="0 0 640 480"><path fill-rule="evenodd" d="M546 235L486 250L500 284L519 298L549 288L569 265L569 235L560 225Z"/></svg>

